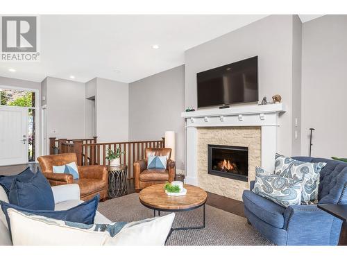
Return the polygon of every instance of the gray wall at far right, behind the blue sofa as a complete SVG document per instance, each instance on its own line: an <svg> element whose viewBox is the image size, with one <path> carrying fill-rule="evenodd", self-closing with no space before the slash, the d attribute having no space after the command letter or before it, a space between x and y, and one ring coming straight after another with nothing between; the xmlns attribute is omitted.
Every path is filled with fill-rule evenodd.
<svg viewBox="0 0 347 260"><path fill-rule="evenodd" d="M347 15L325 15L303 24L303 135L301 152L347 157Z"/></svg>

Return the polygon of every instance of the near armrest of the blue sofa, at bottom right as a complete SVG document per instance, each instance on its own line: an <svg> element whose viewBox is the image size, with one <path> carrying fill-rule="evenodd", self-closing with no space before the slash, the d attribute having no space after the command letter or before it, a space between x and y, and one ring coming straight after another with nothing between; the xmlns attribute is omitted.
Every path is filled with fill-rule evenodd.
<svg viewBox="0 0 347 260"><path fill-rule="evenodd" d="M284 218L289 245L337 245L339 241L342 221L316 205L289 206Z"/></svg>

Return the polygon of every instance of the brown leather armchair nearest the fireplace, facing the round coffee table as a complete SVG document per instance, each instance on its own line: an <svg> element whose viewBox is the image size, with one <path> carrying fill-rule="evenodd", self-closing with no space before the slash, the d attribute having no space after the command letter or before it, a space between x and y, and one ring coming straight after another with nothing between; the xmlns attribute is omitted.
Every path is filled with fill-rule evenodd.
<svg viewBox="0 0 347 260"><path fill-rule="evenodd" d="M153 184L173 182L175 180L176 166L170 159L171 148L146 148L144 150L145 159L134 162L135 189L139 191ZM149 155L166 156L167 168L147 169Z"/></svg>

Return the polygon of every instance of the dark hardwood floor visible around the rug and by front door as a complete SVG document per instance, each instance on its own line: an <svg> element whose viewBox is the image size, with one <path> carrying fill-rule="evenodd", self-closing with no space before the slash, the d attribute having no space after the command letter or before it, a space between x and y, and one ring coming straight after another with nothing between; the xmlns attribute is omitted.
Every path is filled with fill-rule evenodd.
<svg viewBox="0 0 347 260"><path fill-rule="evenodd" d="M31 171L35 172L39 164L18 164L12 166L0 166L0 175L15 175L24 171L27 167L31 168ZM128 194L135 193L134 180L128 180ZM244 203L239 200L233 200L214 193L208 192L207 205L217 207L228 211L232 214L244 217Z"/></svg>

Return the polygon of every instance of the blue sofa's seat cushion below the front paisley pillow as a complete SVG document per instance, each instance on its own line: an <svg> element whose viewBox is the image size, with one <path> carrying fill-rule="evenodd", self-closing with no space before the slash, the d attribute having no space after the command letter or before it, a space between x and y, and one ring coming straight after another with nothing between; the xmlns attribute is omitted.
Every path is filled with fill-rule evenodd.
<svg viewBox="0 0 347 260"><path fill-rule="evenodd" d="M283 216L285 213L285 207L282 207L271 200L267 200L266 198L262 198L252 191L244 191L242 199L244 200L244 207L251 211L255 216L273 227L283 227L285 223L285 218Z"/></svg>

